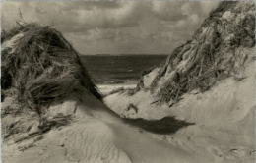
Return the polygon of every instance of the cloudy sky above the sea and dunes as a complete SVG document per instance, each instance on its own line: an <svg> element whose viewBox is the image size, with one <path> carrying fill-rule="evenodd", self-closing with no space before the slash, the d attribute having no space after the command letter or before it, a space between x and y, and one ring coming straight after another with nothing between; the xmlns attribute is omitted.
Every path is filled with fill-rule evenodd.
<svg viewBox="0 0 256 163"><path fill-rule="evenodd" d="M24 20L55 27L81 54L170 54L217 5L213 0L4 1L1 25L9 29Z"/></svg>

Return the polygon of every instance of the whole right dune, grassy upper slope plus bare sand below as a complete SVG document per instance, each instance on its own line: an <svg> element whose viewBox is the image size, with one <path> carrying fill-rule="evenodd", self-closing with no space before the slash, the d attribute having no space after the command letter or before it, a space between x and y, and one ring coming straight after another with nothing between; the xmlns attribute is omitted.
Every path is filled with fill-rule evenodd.
<svg viewBox="0 0 256 163"><path fill-rule="evenodd" d="M197 157L252 163L255 70L255 4L221 2L191 40L144 75L135 90L104 101L126 118L193 123L171 135L151 136Z"/></svg>

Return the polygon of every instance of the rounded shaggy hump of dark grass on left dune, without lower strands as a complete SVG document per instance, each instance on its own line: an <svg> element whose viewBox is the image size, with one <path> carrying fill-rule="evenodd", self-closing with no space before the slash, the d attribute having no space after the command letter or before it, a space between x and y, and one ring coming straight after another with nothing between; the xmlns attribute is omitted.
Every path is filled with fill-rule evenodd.
<svg viewBox="0 0 256 163"><path fill-rule="evenodd" d="M60 32L28 24L7 31L1 37L2 43L18 33L24 36L13 47L14 52L11 49L2 51L4 76L1 80L10 78L7 81L18 89L20 103L38 109L79 91L89 91L101 99L78 53Z"/></svg>

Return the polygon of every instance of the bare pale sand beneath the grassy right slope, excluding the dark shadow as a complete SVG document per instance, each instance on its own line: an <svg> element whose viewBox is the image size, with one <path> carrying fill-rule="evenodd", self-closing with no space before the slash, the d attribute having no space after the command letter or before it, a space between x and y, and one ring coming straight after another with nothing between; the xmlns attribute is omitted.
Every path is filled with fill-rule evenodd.
<svg viewBox="0 0 256 163"><path fill-rule="evenodd" d="M220 81L211 90L193 91L172 107L158 105L149 92L129 96L115 93L104 98L114 112L125 118L147 120L175 117L194 123L174 134L151 136L213 163L253 163L255 155L255 61L244 72L246 79ZM128 109L136 106L137 111Z"/></svg>

